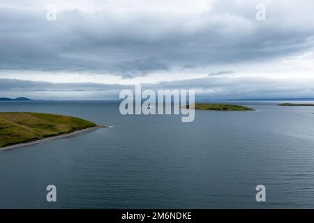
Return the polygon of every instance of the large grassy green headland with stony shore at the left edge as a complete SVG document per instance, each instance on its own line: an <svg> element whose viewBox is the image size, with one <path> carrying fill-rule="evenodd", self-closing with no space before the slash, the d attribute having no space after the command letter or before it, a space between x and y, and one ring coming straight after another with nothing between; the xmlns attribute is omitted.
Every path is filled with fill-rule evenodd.
<svg viewBox="0 0 314 223"><path fill-rule="evenodd" d="M52 139L105 128L82 118L33 112L0 112L0 150L40 144Z"/></svg>

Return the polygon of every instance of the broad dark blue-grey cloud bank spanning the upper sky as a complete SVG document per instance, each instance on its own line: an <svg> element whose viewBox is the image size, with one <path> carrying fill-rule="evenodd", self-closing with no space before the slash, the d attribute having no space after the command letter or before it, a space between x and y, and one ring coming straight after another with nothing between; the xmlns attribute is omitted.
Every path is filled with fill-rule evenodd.
<svg viewBox="0 0 314 223"><path fill-rule="evenodd" d="M291 4L269 3L267 20L258 22L256 3L214 1L210 10L196 15L70 10L60 12L54 22L45 19L45 10L0 8L0 70L135 77L172 68L265 61L313 49L313 4L290 11Z"/></svg>

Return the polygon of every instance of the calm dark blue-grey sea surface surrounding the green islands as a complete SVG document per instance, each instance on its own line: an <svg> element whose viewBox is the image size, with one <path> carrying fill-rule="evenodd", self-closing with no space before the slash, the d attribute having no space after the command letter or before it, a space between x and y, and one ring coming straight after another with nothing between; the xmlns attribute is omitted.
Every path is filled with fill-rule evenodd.
<svg viewBox="0 0 314 223"><path fill-rule="evenodd" d="M0 208L314 208L314 107L242 104L257 111L195 111L181 123L122 116L118 102L0 102L0 112L113 126L0 151ZM46 201L50 184L56 203Z"/></svg>

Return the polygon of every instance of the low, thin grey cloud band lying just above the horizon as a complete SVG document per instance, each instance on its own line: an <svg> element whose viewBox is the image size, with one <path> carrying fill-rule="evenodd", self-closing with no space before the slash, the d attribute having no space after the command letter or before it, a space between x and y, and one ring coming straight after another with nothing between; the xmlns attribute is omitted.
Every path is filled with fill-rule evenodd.
<svg viewBox="0 0 314 223"><path fill-rule="evenodd" d="M142 84L142 89L189 89L193 86L197 91L197 100L202 99L239 99L239 98L312 98L314 86L307 81L274 81L260 78L216 78L205 77L174 82L160 82L158 84ZM123 89L134 91L133 85L95 84L95 83L63 83L32 82L17 79L0 79L2 95L31 95L41 99L85 99L119 100L119 92ZM300 90L303 89L303 90ZM67 95L69 92L80 93ZM54 93L51 95L51 93ZM64 95L63 95L64 94ZM63 95L63 96L60 96ZM14 98L13 97L13 98Z"/></svg>

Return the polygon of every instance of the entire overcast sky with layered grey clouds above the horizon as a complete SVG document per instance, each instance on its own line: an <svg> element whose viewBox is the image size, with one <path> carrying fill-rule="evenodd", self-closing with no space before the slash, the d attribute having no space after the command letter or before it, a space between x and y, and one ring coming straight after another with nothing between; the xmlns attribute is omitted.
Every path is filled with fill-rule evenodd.
<svg viewBox="0 0 314 223"><path fill-rule="evenodd" d="M142 84L314 98L313 12L313 0L0 0L0 97L116 100Z"/></svg>

